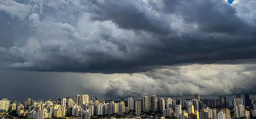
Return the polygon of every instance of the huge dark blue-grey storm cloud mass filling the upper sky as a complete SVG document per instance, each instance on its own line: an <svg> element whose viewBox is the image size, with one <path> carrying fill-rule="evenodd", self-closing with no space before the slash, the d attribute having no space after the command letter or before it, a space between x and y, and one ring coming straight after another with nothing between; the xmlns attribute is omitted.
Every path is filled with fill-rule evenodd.
<svg viewBox="0 0 256 119"><path fill-rule="evenodd" d="M22 10L11 9L15 5ZM7 66L16 70L106 74L185 63L240 64L256 58L256 8L249 6L251 14L245 16L242 5L224 0L3 1L0 10L28 23L34 33L25 45L0 48L0 56L16 62Z"/></svg>

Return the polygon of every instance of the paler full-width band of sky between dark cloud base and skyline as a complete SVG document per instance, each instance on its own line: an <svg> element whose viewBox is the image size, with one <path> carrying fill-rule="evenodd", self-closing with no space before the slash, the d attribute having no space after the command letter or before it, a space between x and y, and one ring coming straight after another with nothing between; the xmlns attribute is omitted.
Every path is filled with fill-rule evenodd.
<svg viewBox="0 0 256 119"><path fill-rule="evenodd" d="M201 95L256 94L255 67L255 64L165 66L135 74L1 71L1 81L15 88L4 91L0 97L56 99L90 94L119 99L152 94L158 97L188 96L198 92ZM34 85L35 82L38 85ZM30 88L24 88L28 85ZM8 87L3 85L0 89Z"/></svg>

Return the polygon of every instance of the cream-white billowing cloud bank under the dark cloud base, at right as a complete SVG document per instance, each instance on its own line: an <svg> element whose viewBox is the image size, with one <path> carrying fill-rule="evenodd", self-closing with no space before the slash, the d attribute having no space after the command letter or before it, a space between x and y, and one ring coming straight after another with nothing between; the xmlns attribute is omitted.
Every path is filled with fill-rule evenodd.
<svg viewBox="0 0 256 119"><path fill-rule="evenodd" d="M187 65L155 69L137 74L105 74L107 82L96 83L102 95L127 97L152 95L222 95L253 91L256 65ZM91 74L94 75L94 74ZM95 77L95 79L97 79ZM90 80L94 80L91 77ZM97 82L97 81L96 81ZM85 84L87 85L87 84ZM89 84L90 85L90 84ZM251 93L255 93L251 92Z"/></svg>

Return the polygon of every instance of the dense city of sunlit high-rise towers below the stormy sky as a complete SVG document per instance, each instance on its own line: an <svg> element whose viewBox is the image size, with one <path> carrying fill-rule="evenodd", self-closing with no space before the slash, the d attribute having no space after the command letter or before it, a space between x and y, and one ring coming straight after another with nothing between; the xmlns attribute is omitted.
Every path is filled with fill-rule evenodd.
<svg viewBox="0 0 256 119"><path fill-rule="evenodd" d="M141 98L104 99L88 94L56 100L0 101L1 118L74 118L74 119L253 119L256 118L256 97L236 94L234 100L194 98L159 98L141 95Z"/></svg>

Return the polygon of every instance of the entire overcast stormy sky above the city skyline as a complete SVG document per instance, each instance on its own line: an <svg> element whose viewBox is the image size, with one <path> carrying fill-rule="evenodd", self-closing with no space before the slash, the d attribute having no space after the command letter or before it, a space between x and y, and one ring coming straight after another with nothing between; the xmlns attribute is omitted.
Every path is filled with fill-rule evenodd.
<svg viewBox="0 0 256 119"><path fill-rule="evenodd" d="M231 1L0 0L0 98L256 94L256 1Z"/></svg>

